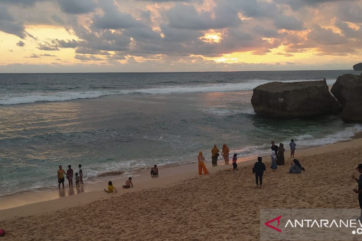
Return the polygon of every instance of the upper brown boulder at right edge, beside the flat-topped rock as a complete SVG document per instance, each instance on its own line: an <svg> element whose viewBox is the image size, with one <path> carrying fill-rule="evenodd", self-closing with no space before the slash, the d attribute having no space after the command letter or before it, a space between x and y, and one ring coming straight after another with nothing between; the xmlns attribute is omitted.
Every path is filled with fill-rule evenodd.
<svg viewBox="0 0 362 241"><path fill-rule="evenodd" d="M362 76L354 74L344 74L338 76L336 83L333 84L331 92L342 106L352 98L352 92L362 88ZM354 94L355 95L355 94Z"/></svg>

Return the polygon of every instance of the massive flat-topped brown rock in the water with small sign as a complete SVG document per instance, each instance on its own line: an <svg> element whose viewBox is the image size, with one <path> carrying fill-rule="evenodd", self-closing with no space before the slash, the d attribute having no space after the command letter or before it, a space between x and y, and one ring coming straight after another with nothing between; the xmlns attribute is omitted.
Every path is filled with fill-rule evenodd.
<svg viewBox="0 0 362 241"><path fill-rule="evenodd" d="M251 103L257 114L277 118L304 118L342 111L325 80L260 85L254 89Z"/></svg>

